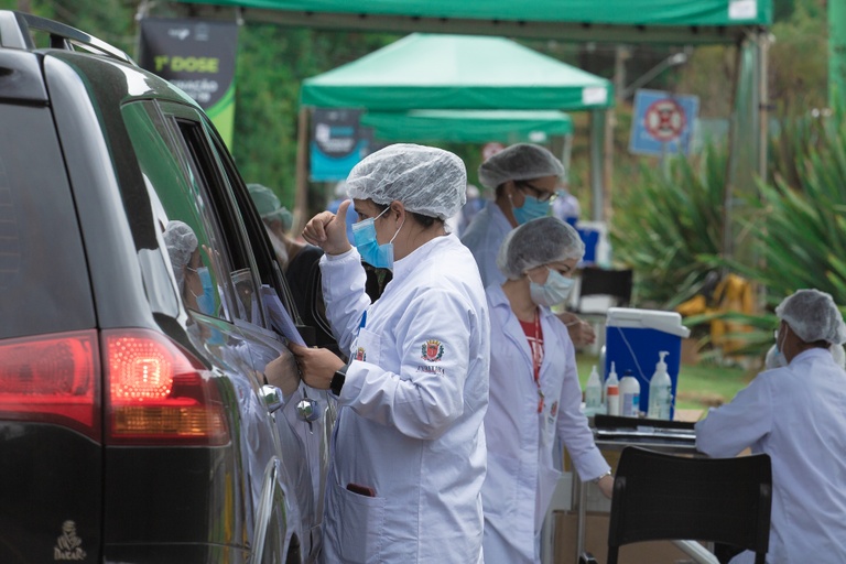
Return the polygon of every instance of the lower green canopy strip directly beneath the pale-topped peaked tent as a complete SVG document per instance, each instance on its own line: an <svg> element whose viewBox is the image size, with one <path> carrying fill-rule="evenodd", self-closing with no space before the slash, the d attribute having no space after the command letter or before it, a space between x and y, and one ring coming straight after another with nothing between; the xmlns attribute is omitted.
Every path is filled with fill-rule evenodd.
<svg viewBox="0 0 846 564"><path fill-rule="evenodd" d="M562 111L412 110L370 111L361 124L384 141L543 143L573 133L573 120Z"/></svg>

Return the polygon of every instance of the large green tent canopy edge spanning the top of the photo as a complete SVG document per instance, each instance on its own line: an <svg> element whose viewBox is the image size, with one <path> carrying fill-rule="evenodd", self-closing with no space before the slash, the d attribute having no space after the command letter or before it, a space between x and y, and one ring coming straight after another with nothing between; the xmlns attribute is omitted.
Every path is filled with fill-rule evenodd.
<svg viewBox="0 0 846 564"><path fill-rule="evenodd" d="M180 0L306 28L473 33L607 43L736 43L772 23L772 0Z"/></svg>

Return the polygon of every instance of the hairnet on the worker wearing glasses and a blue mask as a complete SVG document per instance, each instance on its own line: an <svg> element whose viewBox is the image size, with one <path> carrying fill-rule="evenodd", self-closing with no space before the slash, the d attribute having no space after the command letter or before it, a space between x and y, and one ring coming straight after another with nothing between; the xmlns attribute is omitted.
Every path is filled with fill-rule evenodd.
<svg viewBox="0 0 846 564"><path fill-rule="evenodd" d="M561 176L564 165L541 145L518 143L498 152L479 166L479 182L496 188L508 181Z"/></svg>

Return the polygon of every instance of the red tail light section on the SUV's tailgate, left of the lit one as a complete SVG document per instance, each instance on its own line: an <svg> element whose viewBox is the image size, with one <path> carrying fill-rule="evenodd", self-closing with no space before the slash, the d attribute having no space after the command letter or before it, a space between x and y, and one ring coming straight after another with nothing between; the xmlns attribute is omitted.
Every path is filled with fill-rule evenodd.
<svg viewBox="0 0 846 564"><path fill-rule="evenodd" d="M54 423L100 441L97 332L0 343L0 419Z"/></svg>

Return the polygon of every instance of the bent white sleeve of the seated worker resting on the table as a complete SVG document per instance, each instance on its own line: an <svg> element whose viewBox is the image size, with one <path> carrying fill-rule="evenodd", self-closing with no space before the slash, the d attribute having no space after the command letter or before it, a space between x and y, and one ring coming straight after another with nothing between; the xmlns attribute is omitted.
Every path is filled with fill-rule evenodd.
<svg viewBox="0 0 846 564"><path fill-rule="evenodd" d="M772 429L772 398L767 378L758 376L734 400L696 423L696 448L714 457L737 456Z"/></svg>

